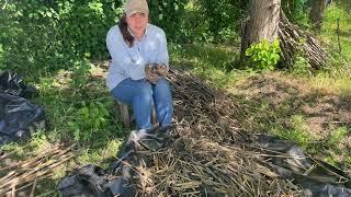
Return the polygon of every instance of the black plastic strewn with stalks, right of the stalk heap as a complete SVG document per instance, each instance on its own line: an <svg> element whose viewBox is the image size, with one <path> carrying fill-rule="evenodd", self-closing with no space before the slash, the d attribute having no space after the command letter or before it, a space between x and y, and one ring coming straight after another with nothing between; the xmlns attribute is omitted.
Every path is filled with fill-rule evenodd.
<svg viewBox="0 0 351 197"><path fill-rule="evenodd" d="M306 196L351 196L351 178L343 171L305 155L295 143L267 135L259 135L258 143L270 167L282 178L293 179Z"/></svg>

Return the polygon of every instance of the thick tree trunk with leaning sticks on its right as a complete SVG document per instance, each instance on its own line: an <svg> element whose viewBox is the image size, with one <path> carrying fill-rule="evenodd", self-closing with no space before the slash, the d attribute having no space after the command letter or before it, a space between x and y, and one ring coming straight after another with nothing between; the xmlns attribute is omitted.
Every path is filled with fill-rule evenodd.
<svg viewBox="0 0 351 197"><path fill-rule="evenodd" d="M278 38L281 0L251 0L247 19L241 26L241 56L251 44L262 39L273 42Z"/></svg>

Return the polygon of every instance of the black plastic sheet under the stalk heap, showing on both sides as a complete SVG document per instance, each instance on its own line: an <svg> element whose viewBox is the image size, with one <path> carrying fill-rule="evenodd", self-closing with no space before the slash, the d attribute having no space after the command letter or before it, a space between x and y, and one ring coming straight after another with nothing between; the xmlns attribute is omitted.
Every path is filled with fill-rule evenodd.
<svg viewBox="0 0 351 197"><path fill-rule="evenodd" d="M150 165L148 158L139 151L156 151L169 144L172 138L168 134L162 134L161 130L156 130L140 138L137 130L132 131L129 140L117 155L118 160L113 162L107 170L92 164L77 169L60 182L58 190L64 197L87 196L87 194L101 197L135 196L138 181L133 179L135 172L131 165L138 166L140 161ZM305 196L351 196L350 177L344 172L322 161L306 157L303 150L293 142L259 135L258 141L253 143L259 151L269 155L265 158L265 161L269 161L269 167L281 178L293 181L294 184L301 186ZM131 165L125 165L125 162Z"/></svg>

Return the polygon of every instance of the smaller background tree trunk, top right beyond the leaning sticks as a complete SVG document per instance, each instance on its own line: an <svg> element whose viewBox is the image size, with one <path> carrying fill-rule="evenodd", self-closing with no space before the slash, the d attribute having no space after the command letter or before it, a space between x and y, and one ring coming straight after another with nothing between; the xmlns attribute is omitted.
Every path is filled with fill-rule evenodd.
<svg viewBox="0 0 351 197"><path fill-rule="evenodd" d="M312 10L309 12L309 19L312 21L312 24L315 25L316 30L320 30L322 18L325 15L326 10L326 3L328 1L326 0L314 0L312 4Z"/></svg>

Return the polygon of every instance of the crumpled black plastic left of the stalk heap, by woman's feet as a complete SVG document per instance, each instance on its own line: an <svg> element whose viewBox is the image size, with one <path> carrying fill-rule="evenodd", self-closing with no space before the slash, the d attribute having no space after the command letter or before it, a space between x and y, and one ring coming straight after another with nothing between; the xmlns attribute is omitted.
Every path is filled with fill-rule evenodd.
<svg viewBox="0 0 351 197"><path fill-rule="evenodd" d="M147 157L141 152L145 150L157 151L171 142L170 128L156 127L151 131L134 130L127 142L117 155L117 160L111 163L107 170L97 165L88 164L75 170L58 185L63 197L69 196L138 196L137 172L131 166L140 163L150 164Z"/></svg>

